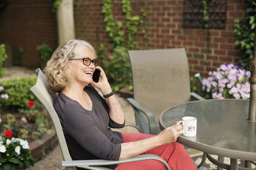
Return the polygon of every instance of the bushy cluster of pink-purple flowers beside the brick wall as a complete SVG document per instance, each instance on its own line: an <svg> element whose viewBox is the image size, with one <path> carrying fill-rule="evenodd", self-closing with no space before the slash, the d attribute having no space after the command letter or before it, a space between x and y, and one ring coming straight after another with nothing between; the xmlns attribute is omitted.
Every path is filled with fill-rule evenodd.
<svg viewBox="0 0 256 170"><path fill-rule="evenodd" d="M214 99L250 98L250 72L239 66L223 64L217 71L209 72L209 77L203 79L203 90L211 93Z"/></svg>

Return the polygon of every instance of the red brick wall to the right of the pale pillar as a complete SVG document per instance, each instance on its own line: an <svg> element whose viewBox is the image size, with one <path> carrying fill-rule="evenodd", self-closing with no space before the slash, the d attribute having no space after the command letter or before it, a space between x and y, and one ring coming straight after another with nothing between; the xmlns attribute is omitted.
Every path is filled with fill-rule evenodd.
<svg viewBox="0 0 256 170"><path fill-rule="evenodd" d="M76 37L90 41L97 47L100 43L109 44L105 33L102 14L102 2L94 0L76 0L75 25ZM125 24L125 15L121 10L121 1L112 1L112 12L115 20ZM221 63L237 63L239 60L234 20L243 19L244 0L227 0L226 26L224 29L209 29L207 40L206 29L183 28L183 0L131 0L132 15L140 14L140 9L147 12L146 23L149 49L186 48L191 74L200 72L207 75ZM136 49L145 49L142 33L136 37ZM207 48L209 42L209 49Z"/></svg>

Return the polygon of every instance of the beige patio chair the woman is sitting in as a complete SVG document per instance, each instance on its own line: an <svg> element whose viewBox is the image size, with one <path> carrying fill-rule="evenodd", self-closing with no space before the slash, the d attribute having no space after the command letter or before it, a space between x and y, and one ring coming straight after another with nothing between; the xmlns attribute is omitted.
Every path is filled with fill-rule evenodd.
<svg viewBox="0 0 256 170"><path fill-rule="evenodd" d="M41 69L37 69L35 72L38 75L37 82L35 86L32 86L30 90L35 95L35 97L38 98L38 100L44 105L45 109L47 110L52 119L58 137L58 142L61 148L61 153L64 158L64 161L61 162L62 167L66 167L67 170L73 170L74 168L76 169L76 167L81 167L89 170L109 170L108 168L102 166L111 164L122 164L133 161L157 160L162 162L166 166L166 168L170 170L169 165L163 158L152 154L134 156L119 161L109 161L104 159L73 161L67 148L67 143L64 137L64 133L62 131L61 123L53 107L58 94L49 92L47 78L41 71Z"/></svg>

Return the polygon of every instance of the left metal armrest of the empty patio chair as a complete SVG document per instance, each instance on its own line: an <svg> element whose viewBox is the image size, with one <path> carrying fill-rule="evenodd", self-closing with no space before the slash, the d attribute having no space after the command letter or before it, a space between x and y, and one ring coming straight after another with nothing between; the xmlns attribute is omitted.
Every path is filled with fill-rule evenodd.
<svg viewBox="0 0 256 170"><path fill-rule="evenodd" d="M143 122L145 121L145 118L140 115L140 112L144 113L148 119L148 124L149 124L149 132L148 132L148 127L146 126L146 122L142 123L142 130L143 133L148 133L148 134L154 134L157 135L157 123L156 120L154 118L154 115L149 112L147 109L143 108L143 107L139 107L141 104L139 104L137 101L134 100L134 98L127 98L127 101L132 105L132 107L134 108L134 112L135 114L137 114L137 117Z"/></svg>

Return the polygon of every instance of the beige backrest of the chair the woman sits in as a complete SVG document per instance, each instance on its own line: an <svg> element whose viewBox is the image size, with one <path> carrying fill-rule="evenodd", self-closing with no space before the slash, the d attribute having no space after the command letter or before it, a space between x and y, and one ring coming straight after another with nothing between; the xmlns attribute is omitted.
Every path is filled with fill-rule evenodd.
<svg viewBox="0 0 256 170"><path fill-rule="evenodd" d="M38 98L38 100L44 105L45 109L47 110L47 112L49 113L52 119L55 131L58 137L58 142L61 147L61 153L64 158L64 161L71 161L72 158L67 148L61 123L53 107L57 98L57 94L49 92L47 78L44 75L44 73L41 71L41 69L37 69L36 72L38 74L37 82L35 86L32 86L30 90L35 95L35 97ZM67 169L73 170L73 167L67 167Z"/></svg>

